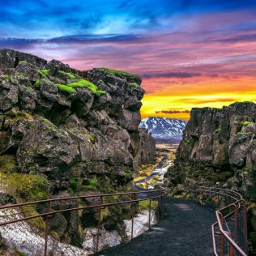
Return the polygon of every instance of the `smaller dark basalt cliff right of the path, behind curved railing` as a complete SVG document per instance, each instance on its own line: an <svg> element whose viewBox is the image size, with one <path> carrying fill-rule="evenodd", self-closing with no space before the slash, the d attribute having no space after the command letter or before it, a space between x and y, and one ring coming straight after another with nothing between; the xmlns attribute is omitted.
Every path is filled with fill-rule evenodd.
<svg viewBox="0 0 256 256"><path fill-rule="evenodd" d="M192 109L166 175L171 194L186 195L195 186L237 190L256 200L256 104L236 102L223 109ZM250 233L256 245L256 204L250 203Z"/></svg>

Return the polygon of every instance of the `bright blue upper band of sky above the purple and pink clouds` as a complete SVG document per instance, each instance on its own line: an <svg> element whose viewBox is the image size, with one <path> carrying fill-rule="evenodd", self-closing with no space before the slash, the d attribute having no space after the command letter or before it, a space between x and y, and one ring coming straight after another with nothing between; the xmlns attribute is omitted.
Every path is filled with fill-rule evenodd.
<svg viewBox="0 0 256 256"><path fill-rule="evenodd" d="M2 1L1 37L49 39L79 34L177 31L186 15L255 7L255 1ZM183 28L185 29L185 28Z"/></svg>

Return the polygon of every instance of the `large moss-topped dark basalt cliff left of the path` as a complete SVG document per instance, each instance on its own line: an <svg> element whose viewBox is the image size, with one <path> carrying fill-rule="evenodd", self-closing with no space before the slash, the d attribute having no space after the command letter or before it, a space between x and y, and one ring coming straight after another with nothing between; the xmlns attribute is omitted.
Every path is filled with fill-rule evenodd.
<svg viewBox="0 0 256 256"><path fill-rule="evenodd" d="M23 202L133 190L134 168L155 158L154 140L138 128L140 83L119 70L0 50L0 192ZM79 226L72 218L53 220L70 242Z"/></svg>

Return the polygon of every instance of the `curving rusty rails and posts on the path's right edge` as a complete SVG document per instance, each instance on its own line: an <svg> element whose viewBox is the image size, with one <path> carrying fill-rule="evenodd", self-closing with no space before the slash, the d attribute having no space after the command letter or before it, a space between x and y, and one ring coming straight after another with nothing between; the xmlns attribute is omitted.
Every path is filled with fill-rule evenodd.
<svg viewBox="0 0 256 256"><path fill-rule="evenodd" d="M200 186L196 190L198 192L203 192L203 193L210 193L211 196L212 194L216 194L222 197L224 196L225 202L226 198L232 199L232 203L229 203L228 205L221 207L215 211L216 215L216 222L211 225L211 233L212 233L212 244L213 244L213 251L215 256L219 256L220 254L218 253L217 250L217 245L216 245L216 240L215 236L220 235L220 245L221 245L221 255L224 256L224 240L228 241L229 244L229 256L234 256L235 252L238 255L241 256L246 256L247 254L245 253L246 251L246 243L247 243L247 220L246 220L246 207L245 207L245 200L241 196L241 194L237 193L236 191L233 190L226 190L226 189L221 189L221 188L214 188L214 187L203 187ZM228 213L224 214L223 211L227 210ZM230 211L231 210L231 211ZM237 214L243 210L243 220L244 220L244 227L243 227L243 232L244 232L244 243L245 243L245 250L242 250L241 247L237 244ZM224 221L225 220L230 220L232 217L234 217L234 237L232 237L232 234L224 229ZM215 227L219 228L219 232L215 231Z"/></svg>

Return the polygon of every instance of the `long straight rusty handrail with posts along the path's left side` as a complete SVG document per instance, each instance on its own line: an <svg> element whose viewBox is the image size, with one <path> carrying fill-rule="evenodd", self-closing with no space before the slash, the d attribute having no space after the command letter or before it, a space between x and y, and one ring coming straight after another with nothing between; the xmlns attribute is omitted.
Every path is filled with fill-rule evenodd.
<svg viewBox="0 0 256 256"><path fill-rule="evenodd" d="M156 194L154 194L156 193ZM139 194L147 194L146 198L136 198L136 195L138 196ZM120 198L121 201L118 201L117 198L113 198L116 202L111 202L111 203L104 203L103 198L108 198L108 197L113 197L113 196L117 196L117 195L130 195L131 198L127 199L127 198ZM40 201L33 201L33 202L28 202L28 203L14 203L14 204L8 204L6 206L2 206L0 207L0 211L1 210L6 210L6 209L13 209L13 208L17 208L17 207L23 207L23 206L34 206L35 204L41 204L44 203L45 204L45 212L43 213L37 213L36 215L31 215L31 216L27 216L24 217L23 213L25 213L26 211L21 211L18 213L14 213L11 215L18 215L17 217L15 216L14 219L12 220L6 220L3 221L2 223L0 223L0 227L5 226L7 224L15 224L18 222L22 222L22 221L27 221L27 220L32 220L32 219L36 219L36 218L41 218L44 217L45 218L45 253L44 255L46 256L48 254L48 237L49 237L49 217L52 217L53 215L56 215L58 213L62 213L62 212L67 212L67 211L79 211L79 210L83 210L83 209L88 209L88 208L96 208L98 211L98 224L97 224L97 239L96 239L96 252L98 252L99 250L99 237L100 237L100 214L102 209L104 209L105 207L110 207L110 206L116 206L116 205L122 205L122 204L126 204L126 203L130 203L130 212L131 212L131 218L132 218L132 226L131 226L131 239L134 237L133 236L133 218L134 218L134 203L139 203L140 201L145 201L145 200L149 200L149 215L148 215L148 228L151 227L151 200L157 199L157 211L158 211L158 218L157 220L159 220L159 211L161 208L161 213L162 213L162 218L164 217L164 190L143 190L143 191L130 191L130 192L121 192L121 193L113 193L113 194L89 194L89 195L83 195L83 196L77 196L77 197L68 197L68 198L51 198L51 199L46 199L46 200L40 200ZM62 203L63 201L68 201L68 200L75 200L75 199L86 199L86 198L99 198L100 203L98 203L96 201L96 204L93 205L86 205L86 206L78 206L78 207L72 207L72 205L70 205L68 208L66 209L62 209L62 210L56 210L53 211L53 209L51 209L51 207L53 206L53 202L59 202ZM160 204L160 199L161 199L161 204ZM4 218L6 216L10 216L10 215L2 215L1 217ZM20 218L20 216L22 218Z"/></svg>

